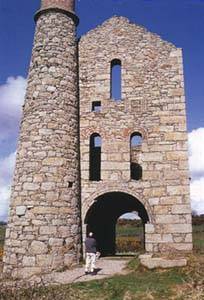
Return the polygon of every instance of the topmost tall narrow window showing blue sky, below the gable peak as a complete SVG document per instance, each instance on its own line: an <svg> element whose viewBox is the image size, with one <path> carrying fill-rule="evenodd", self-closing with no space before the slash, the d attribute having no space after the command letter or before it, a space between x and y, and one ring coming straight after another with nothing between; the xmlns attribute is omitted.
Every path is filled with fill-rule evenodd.
<svg viewBox="0 0 204 300"><path fill-rule="evenodd" d="M114 59L111 61L111 99L121 100L121 61Z"/></svg>

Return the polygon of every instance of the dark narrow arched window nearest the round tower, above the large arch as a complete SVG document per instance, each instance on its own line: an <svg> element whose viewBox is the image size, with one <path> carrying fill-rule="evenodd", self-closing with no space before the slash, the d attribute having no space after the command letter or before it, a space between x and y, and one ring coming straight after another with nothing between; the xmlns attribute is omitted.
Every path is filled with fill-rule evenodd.
<svg viewBox="0 0 204 300"><path fill-rule="evenodd" d="M101 137L98 133L93 133L90 137L89 163L89 179L101 180Z"/></svg>

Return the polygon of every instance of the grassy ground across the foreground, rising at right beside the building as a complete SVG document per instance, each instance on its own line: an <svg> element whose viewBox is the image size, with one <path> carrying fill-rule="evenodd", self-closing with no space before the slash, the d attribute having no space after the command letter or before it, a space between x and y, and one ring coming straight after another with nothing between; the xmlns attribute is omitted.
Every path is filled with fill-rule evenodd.
<svg viewBox="0 0 204 300"><path fill-rule="evenodd" d="M122 235L125 231L127 233L127 227L120 228ZM0 232L2 234L2 230ZM188 266L184 268L147 270L134 257L129 262L127 275L17 292L1 291L0 287L0 300L203 300L204 223L193 226L193 238L194 254L189 256Z"/></svg>

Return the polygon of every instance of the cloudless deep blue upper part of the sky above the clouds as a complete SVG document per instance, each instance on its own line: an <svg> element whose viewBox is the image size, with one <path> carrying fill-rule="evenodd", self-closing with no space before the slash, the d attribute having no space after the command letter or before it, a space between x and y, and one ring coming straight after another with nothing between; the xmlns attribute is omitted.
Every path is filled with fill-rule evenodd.
<svg viewBox="0 0 204 300"><path fill-rule="evenodd" d="M78 35L112 15L123 15L183 48L188 130L204 124L204 0L79 0ZM26 77L39 0L0 2L0 84Z"/></svg>

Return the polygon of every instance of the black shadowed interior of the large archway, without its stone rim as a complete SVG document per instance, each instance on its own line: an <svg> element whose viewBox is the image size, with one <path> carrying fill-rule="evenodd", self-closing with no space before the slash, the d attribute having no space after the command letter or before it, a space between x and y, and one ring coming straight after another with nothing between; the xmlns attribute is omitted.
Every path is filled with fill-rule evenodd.
<svg viewBox="0 0 204 300"><path fill-rule="evenodd" d="M121 215L132 211L138 212L143 224L149 221L144 205L123 192L105 193L97 197L89 208L85 217L87 232L94 232L103 256L115 255L116 222Z"/></svg>

